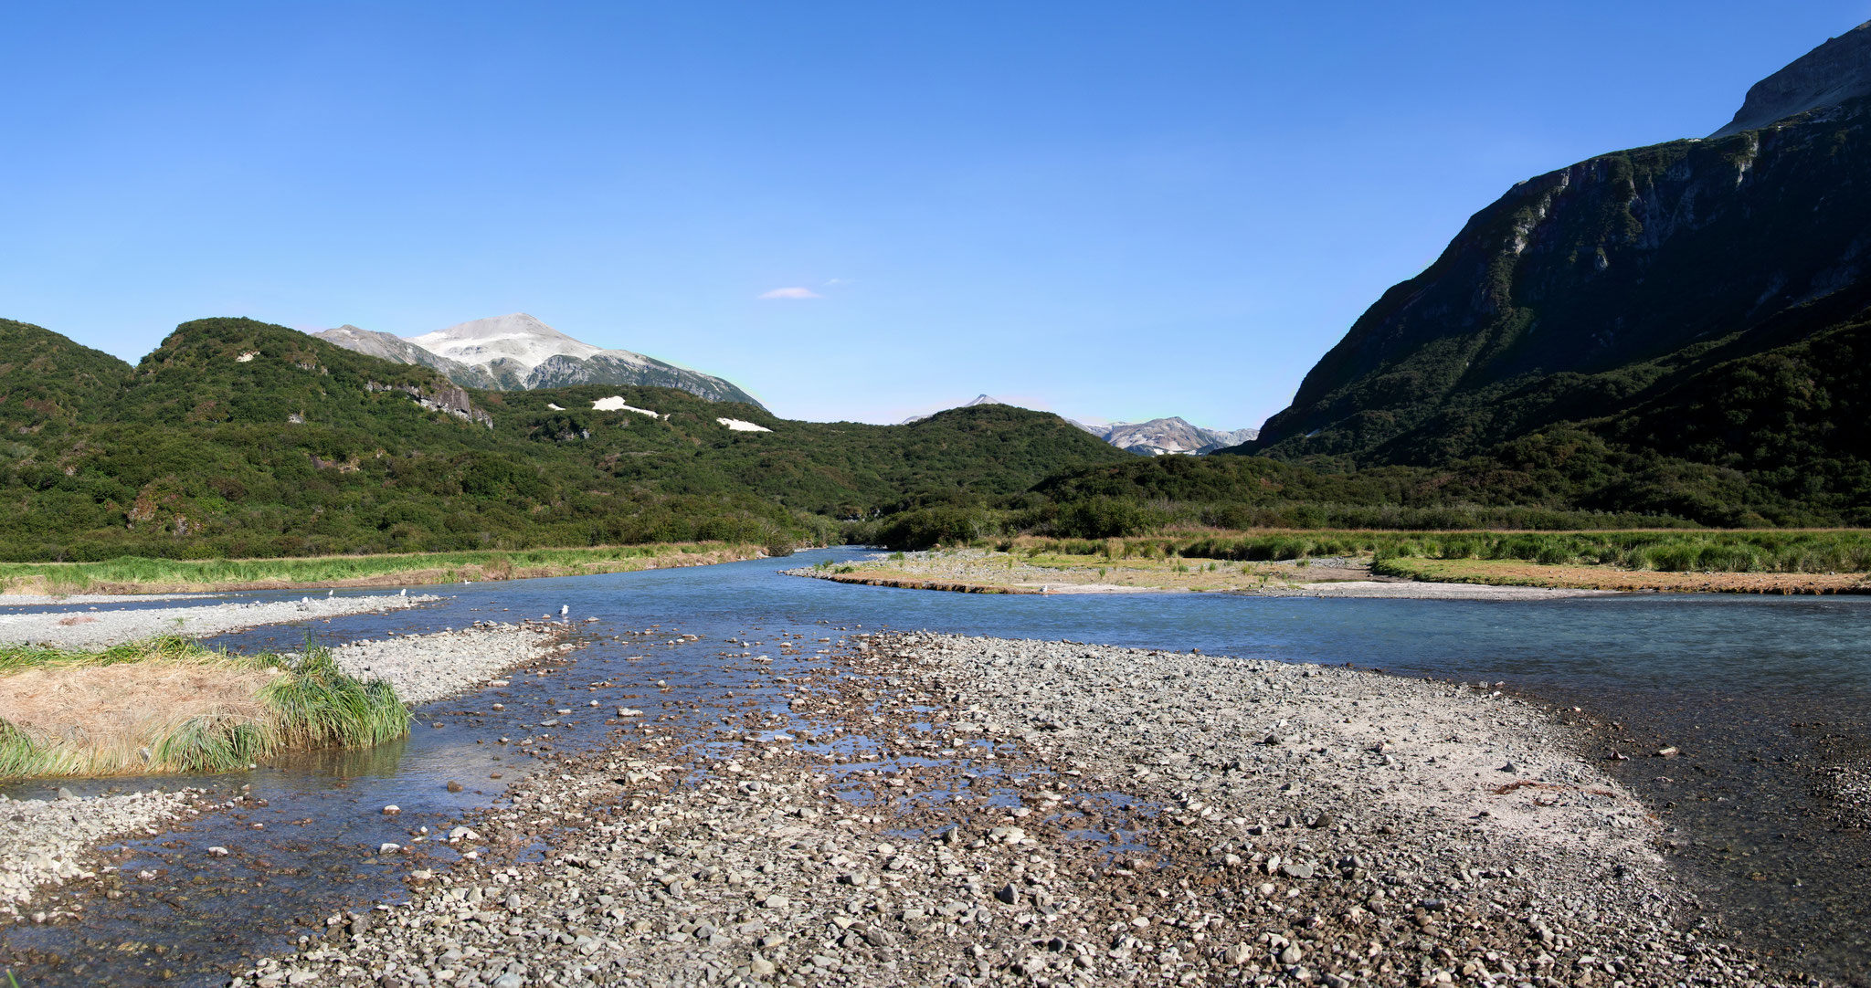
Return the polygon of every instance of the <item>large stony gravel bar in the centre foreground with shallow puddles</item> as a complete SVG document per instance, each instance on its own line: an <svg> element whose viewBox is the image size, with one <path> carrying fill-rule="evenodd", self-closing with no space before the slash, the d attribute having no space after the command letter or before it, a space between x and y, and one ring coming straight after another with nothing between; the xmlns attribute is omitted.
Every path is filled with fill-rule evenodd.
<svg viewBox="0 0 1871 988"><path fill-rule="evenodd" d="M741 672L776 705L619 711L232 984L1796 982L1489 685L936 634Z"/></svg>

